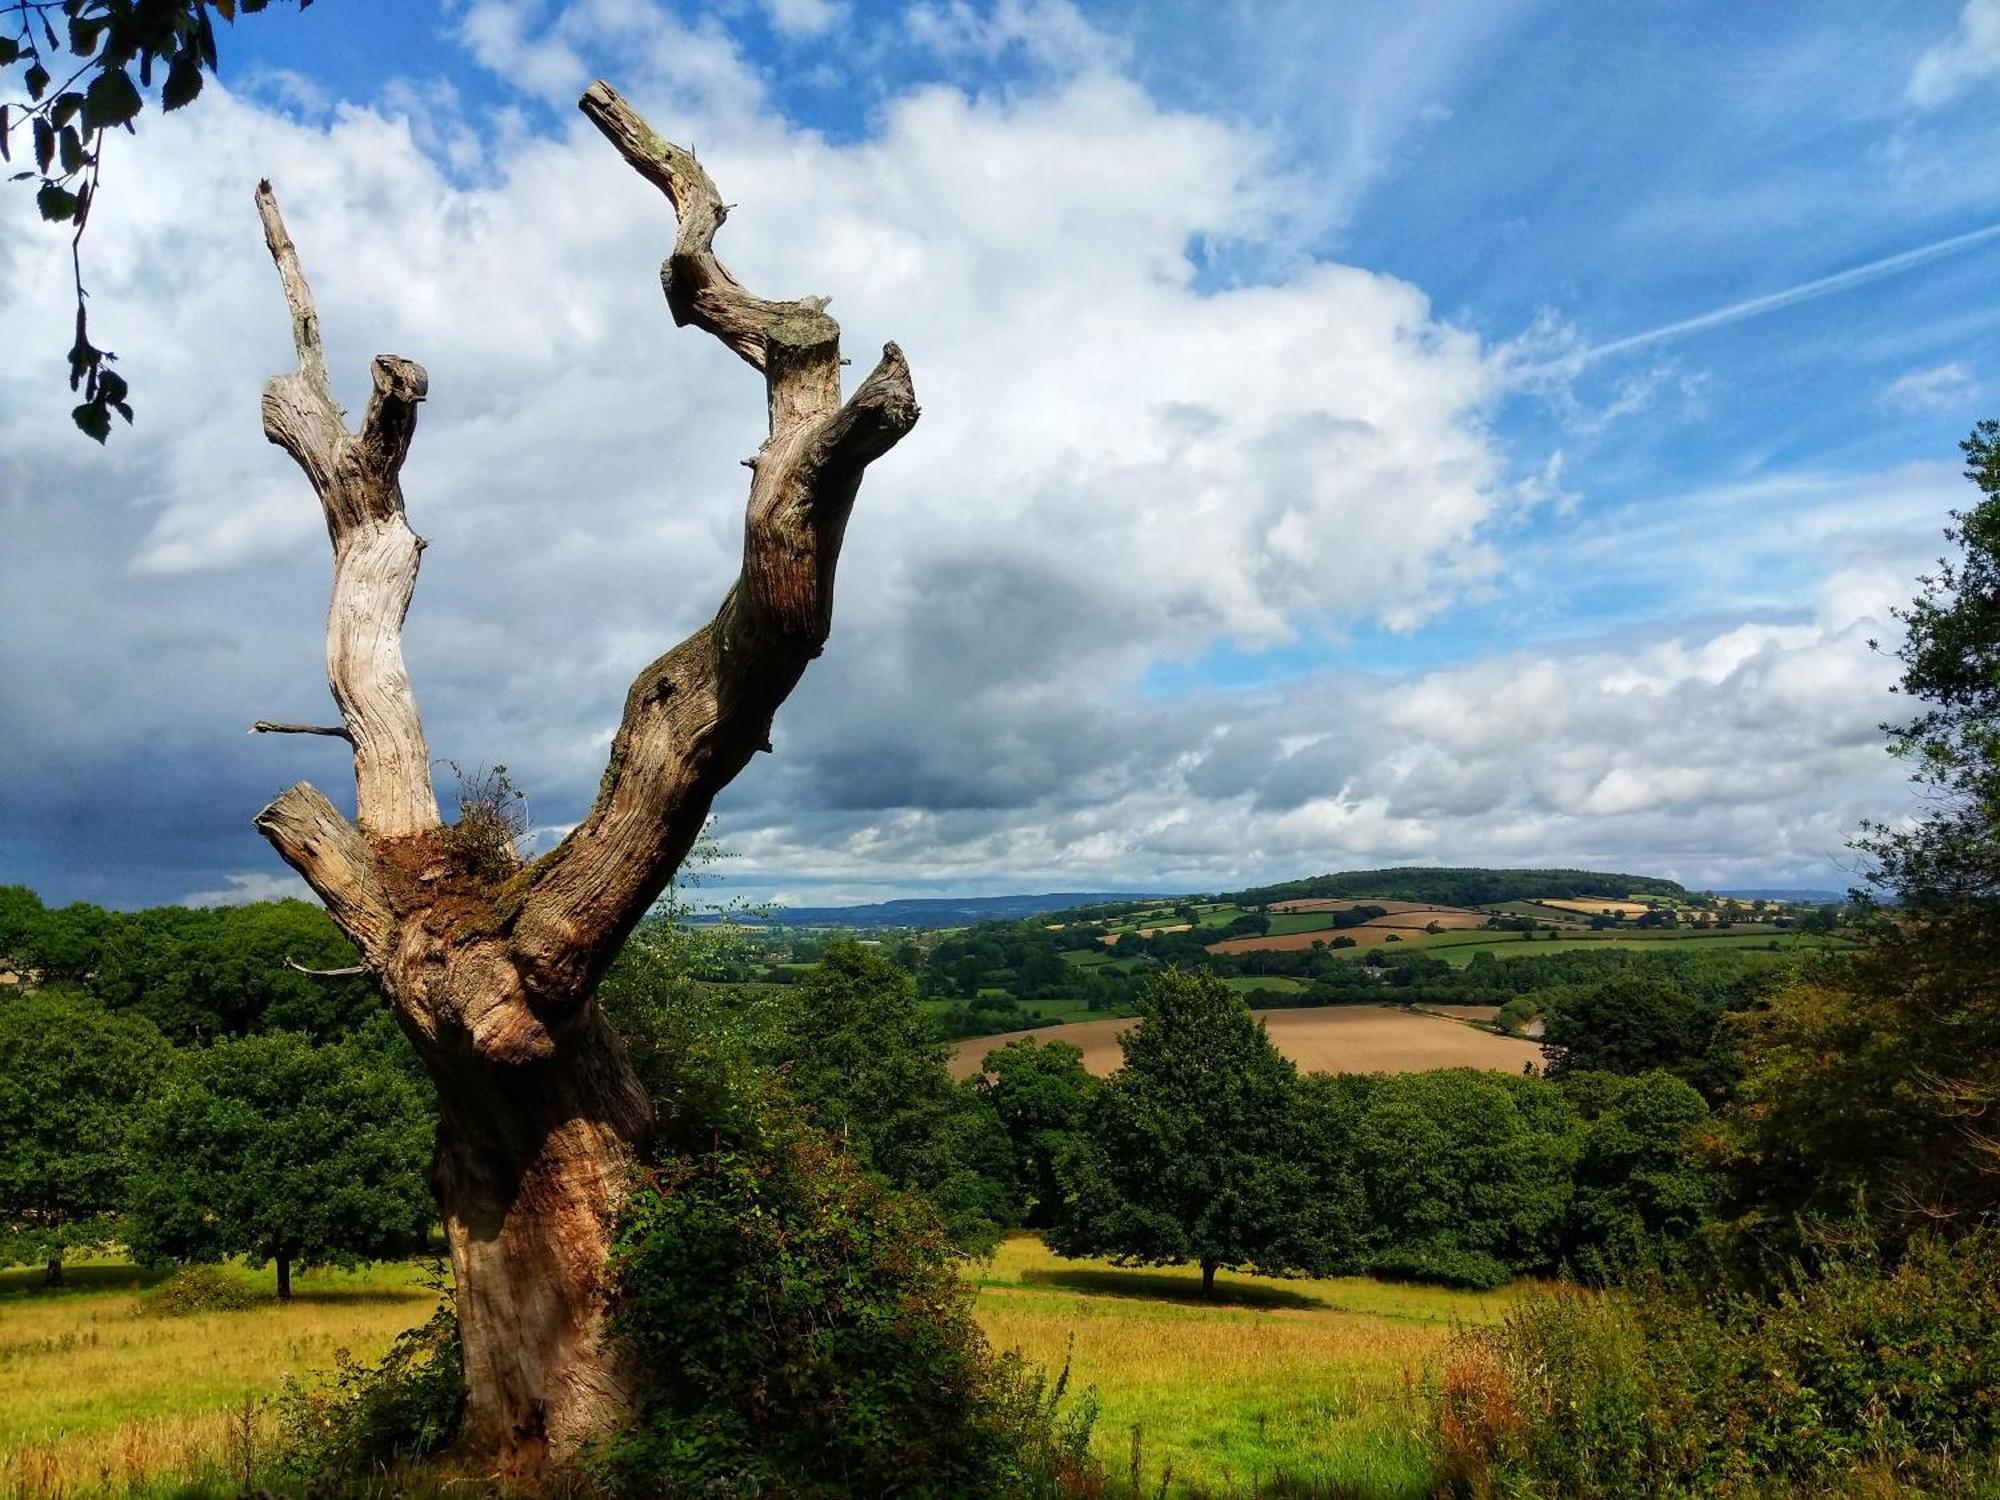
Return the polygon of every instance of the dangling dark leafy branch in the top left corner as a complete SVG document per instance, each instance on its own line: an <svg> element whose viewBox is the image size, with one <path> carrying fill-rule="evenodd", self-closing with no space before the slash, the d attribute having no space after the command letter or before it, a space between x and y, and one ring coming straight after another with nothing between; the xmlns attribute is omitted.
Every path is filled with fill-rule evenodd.
<svg viewBox="0 0 2000 1500"><path fill-rule="evenodd" d="M298 0L300 10L310 4ZM12 180L38 184L34 204L44 220L74 226L70 390L82 392L82 402L70 418L98 442L110 436L112 412L132 420L130 388L112 368L118 356L90 342L84 290L82 242L102 182L106 134L120 128L132 134L150 92L164 112L194 102L204 74L216 72L210 12L234 24L238 12L248 16L268 6L270 0L0 0L0 160L14 160L18 130L34 166Z"/></svg>

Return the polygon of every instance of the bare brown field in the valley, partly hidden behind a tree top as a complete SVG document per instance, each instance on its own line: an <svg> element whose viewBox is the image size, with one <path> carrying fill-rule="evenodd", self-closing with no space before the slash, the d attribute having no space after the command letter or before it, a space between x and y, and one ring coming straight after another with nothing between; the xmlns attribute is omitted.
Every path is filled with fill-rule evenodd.
<svg viewBox="0 0 2000 1500"><path fill-rule="evenodd" d="M1270 1040L1300 1072L1428 1072L1430 1068L1492 1068L1520 1072L1542 1066L1542 1048L1512 1036L1494 1036L1460 1026L1442 1016L1422 1016L1390 1006L1314 1006L1302 1010L1258 1010ZM1068 1042L1084 1050L1084 1066L1102 1076L1116 1072L1124 1054L1118 1032L1136 1026L1124 1020L1082 1020L1070 1026L1040 1026L1032 1032L974 1036L952 1048L952 1076L970 1078L994 1048L1022 1036L1038 1042Z"/></svg>

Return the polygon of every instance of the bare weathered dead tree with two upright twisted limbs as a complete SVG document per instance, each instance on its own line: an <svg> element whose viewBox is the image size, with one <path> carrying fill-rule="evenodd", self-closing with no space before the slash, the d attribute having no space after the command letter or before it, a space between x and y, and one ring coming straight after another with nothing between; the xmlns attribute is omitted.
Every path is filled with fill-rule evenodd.
<svg viewBox="0 0 2000 1500"><path fill-rule="evenodd" d="M512 848L498 866L468 860L442 826L404 672L402 622L424 540L404 520L398 476L424 370L378 356L360 432L346 428L298 252L270 184L256 194L298 346L298 372L264 390L264 434L298 460L326 512L326 678L342 718L330 732L354 746L358 804L348 822L300 782L256 826L360 948L436 1080L434 1186L456 1276L468 1442L508 1474L562 1464L630 1410L604 1266L652 1114L596 984L716 792L770 748L772 714L826 642L862 472L918 414L894 344L842 402L840 328L826 300L744 290L714 256L726 208L694 156L660 140L610 84L592 84L582 110L672 202L678 232L660 268L668 310L764 376L770 436L748 460L736 584L714 620L638 674L596 804L532 864Z"/></svg>

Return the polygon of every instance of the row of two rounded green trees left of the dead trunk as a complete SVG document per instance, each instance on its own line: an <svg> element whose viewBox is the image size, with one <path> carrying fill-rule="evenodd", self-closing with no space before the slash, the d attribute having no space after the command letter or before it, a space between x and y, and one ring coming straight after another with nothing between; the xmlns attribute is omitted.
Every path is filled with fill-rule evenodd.
<svg viewBox="0 0 2000 1500"><path fill-rule="evenodd" d="M0 1260L74 1250L292 1268L408 1254L434 1106L380 1028L176 1048L70 986L0 1002Z"/></svg>

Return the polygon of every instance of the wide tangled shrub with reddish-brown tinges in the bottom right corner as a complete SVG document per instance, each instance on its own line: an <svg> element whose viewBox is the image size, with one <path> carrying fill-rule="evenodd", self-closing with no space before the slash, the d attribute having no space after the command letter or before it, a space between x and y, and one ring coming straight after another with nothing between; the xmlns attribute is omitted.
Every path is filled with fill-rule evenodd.
<svg viewBox="0 0 2000 1500"><path fill-rule="evenodd" d="M1770 1296L1530 1296L1444 1370L1440 1484L1578 1500L1986 1492L1996 1390L1994 1230L1920 1240L1894 1268L1828 1250Z"/></svg>

